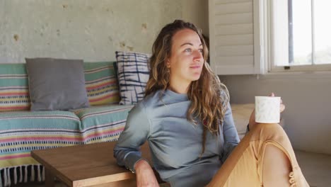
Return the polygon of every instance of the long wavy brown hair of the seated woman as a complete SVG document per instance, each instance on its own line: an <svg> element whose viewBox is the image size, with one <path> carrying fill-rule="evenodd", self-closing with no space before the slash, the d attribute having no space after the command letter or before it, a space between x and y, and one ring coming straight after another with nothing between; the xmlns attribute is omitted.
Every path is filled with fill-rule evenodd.
<svg viewBox="0 0 331 187"><path fill-rule="evenodd" d="M187 97L192 101L187 111L187 120L198 124L197 120L204 125L202 135L202 153L206 142L207 130L214 135L220 134L219 125L223 123L227 103L229 101L228 90L221 83L219 77L211 71L208 58L208 49L202 36L202 32L194 24L181 20L175 20L164 26L158 34L152 47L150 59L149 81L146 85L145 96L155 91L168 89L170 74L166 65L166 60L171 56L172 38L175 33L183 29L191 29L199 35L203 46L204 65L201 76L197 81L192 81L188 90Z"/></svg>

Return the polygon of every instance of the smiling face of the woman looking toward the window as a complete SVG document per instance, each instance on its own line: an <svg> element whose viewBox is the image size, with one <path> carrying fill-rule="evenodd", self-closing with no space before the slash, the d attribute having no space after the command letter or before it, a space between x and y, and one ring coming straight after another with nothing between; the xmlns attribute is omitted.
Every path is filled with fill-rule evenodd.
<svg viewBox="0 0 331 187"><path fill-rule="evenodd" d="M167 66L170 67L170 84L188 86L199 79L204 65L203 46L199 35L191 29L179 30L172 38Z"/></svg>

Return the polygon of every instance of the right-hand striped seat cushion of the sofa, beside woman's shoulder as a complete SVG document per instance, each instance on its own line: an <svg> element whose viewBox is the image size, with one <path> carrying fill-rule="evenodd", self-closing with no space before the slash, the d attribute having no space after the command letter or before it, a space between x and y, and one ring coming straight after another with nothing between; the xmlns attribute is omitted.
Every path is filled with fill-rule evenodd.
<svg viewBox="0 0 331 187"><path fill-rule="evenodd" d="M74 110L81 119L83 142L115 141L124 130L127 115L133 106L105 105Z"/></svg>

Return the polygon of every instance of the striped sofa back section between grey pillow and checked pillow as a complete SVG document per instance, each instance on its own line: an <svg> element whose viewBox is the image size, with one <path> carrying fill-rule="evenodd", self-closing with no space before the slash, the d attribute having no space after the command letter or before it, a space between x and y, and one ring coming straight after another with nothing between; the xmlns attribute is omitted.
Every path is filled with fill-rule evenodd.
<svg viewBox="0 0 331 187"><path fill-rule="evenodd" d="M120 94L113 62L85 62L85 85L91 106L118 103Z"/></svg>

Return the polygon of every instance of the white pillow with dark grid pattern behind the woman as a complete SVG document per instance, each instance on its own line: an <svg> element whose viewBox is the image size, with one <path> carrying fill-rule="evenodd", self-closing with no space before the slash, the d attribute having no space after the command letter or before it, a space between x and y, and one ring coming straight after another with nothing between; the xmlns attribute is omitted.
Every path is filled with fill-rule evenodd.
<svg viewBox="0 0 331 187"><path fill-rule="evenodd" d="M139 52L116 53L117 78L120 86L121 105L132 105L144 98L149 80L150 55Z"/></svg>

